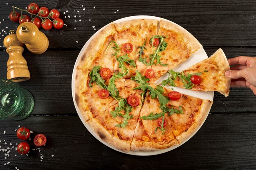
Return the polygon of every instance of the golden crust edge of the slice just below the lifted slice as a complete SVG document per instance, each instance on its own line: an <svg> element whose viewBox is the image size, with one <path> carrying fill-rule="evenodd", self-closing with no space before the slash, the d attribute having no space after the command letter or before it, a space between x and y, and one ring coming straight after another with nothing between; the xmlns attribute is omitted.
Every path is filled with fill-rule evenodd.
<svg viewBox="0 0 256 170"><path fill-rule="evenodd" d="M194 132L198 131L199 127L201 126L201 124L203 124L204 120L208 116L212 104L213 101L211 100L202 101L199 114L195 116L195 122L193 123L193 125L186 132L183 132L180 135L176 136L179 144L190 138Z"/></svg>

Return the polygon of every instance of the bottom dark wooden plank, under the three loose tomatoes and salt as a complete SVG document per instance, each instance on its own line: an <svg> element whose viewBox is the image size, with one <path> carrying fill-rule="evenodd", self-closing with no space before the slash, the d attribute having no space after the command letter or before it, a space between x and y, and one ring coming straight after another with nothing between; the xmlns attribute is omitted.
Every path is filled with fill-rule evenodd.
<svg viewBox="0 0 256 170"><path fill-rule="evenodd" d="M10 156L4 159L4 152L0 152L0 169L255 169L255 122L255 112L210 114L198 133L182 146L161 155L142 157L119 153L101 144L78 116L0 120L2 148L22 142L16 137L18 125L33 131L32 139L38 133L47 137L46 146L39 147L40 152L32 150L38 148L32 140L26 141L31 147L28 156L11 150ZM42 162L40 154L44 156ZM7 162L9 165L4 166Z"/></svg>

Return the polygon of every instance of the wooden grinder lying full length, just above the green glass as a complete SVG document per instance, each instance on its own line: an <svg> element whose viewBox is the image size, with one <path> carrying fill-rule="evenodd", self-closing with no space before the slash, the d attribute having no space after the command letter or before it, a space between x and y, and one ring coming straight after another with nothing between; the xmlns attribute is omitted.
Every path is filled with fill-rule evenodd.
<svg viewBox="0 0 256 170"><path fill-rule="evenodd" d="M12 81L26 81L30 79L27 61L22 56L24 51L23 43L20 42L14 30L4 38L4 46L9 54L7 61L7 79Z"/></svg>

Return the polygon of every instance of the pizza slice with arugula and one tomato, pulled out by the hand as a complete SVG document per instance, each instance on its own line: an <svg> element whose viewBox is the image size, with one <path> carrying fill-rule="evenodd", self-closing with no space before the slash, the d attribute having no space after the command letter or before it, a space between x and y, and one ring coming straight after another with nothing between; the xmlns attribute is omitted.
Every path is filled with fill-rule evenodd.
<svg viewBox="0 0 256 170"><path fill-rule="evenodd" d="M168 78L162 81L162 85L168 84L193 91L217 91L227 97L231 82L231 78L225 76L228 70L230 70L229 63L220 48L211 57L192 65L181 73L170 70Z"/></svg>

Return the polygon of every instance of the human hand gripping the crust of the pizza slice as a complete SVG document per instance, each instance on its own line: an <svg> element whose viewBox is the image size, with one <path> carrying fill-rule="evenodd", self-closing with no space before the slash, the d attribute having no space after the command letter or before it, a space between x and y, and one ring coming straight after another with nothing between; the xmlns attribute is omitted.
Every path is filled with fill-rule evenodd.
<svg viewBox="0 0 256 170"><path fill-rule="evenodd" d="M231 67L225 76L232 78L230 87L249 87L256 95L256 57L239 56L228 59Z"/></svg>

